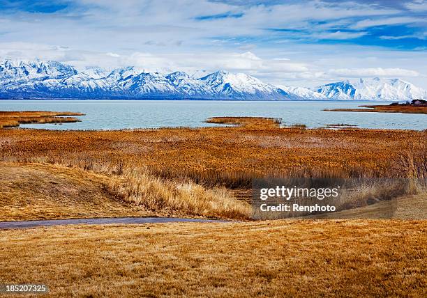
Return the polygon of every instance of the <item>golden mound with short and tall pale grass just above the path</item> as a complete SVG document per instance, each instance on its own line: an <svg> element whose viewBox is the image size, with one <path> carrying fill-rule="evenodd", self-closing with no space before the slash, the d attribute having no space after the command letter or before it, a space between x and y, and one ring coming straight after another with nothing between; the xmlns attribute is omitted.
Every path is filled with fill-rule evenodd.
<svg viewBox="0 0 427 298"><path fill-rule="evenodd" d="M224 189L161 180L144 171L107 176L64 166L0 162L0 177L0 221L250 216L250 206Z"/></svg>

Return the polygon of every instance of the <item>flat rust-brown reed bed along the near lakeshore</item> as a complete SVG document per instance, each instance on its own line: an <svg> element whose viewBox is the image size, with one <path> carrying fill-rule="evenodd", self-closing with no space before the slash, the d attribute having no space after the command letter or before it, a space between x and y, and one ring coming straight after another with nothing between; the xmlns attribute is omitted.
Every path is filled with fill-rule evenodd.
<svg viewBox="0 0 427 298"><path fill-rule="evenodd" d="M125 131L0 130L0 160L121 173L144 167L163 178L248 187L273 176L401 177L400 150L427 132L205 127ZM415 150L424 150L414 146Z"/></svg>

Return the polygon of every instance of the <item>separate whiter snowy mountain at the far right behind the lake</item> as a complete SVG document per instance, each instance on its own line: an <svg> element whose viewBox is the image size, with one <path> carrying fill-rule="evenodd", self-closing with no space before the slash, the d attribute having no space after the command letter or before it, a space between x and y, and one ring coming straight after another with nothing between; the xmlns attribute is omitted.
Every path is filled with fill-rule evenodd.
<svg viewBox="0 0 427 298"><path fill-rule="evenodd" d="M427 91L401 79L355 79L338 81L314 88L329 100L417 100L426 99Z"/></svg>

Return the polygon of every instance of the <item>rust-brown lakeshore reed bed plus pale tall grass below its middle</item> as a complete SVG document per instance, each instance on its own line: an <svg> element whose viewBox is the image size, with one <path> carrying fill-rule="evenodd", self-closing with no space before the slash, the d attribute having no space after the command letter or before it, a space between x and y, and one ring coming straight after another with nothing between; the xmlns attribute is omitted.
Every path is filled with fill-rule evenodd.
<svg viewBox="0 0 427 298"><path fill-rule="evenodd" d="M94 171L114 180L107 183L112 193L149 210L239 219L248 205L231 193L247 200L254 178L425 181L426 131L310 130L271 121L197 129L0 130L0 161ZM218 191L224 188L232 191Z"/></svg>

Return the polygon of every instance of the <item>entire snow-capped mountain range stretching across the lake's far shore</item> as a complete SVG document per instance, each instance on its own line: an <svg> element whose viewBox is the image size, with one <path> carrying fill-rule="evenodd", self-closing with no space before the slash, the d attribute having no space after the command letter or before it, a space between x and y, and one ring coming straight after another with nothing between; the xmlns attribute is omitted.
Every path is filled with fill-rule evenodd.
<svg viewBox="0 0 427 298"><path fill-rule="evenodd" d="M225 71L202 77L185 72L144 72L133 67L78 71L56 61L6 60L0 62L0 98L405 101L426 99L427 91L401 79L279 88L243 73Z"/></svg>

